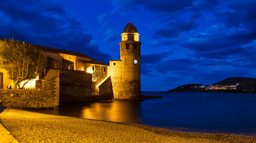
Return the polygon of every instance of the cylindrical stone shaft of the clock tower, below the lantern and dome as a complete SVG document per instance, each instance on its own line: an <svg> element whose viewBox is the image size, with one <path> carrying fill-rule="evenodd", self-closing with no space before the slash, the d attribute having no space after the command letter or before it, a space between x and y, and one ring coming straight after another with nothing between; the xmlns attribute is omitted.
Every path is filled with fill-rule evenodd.
<svg viewBox="0 0 256 143"><path fill-rule="evenodd" d="M137 41L120 42L122 60L122 96L119 98L140 98L140 44ZM137 64L134 64L137 60Z"/></svg>

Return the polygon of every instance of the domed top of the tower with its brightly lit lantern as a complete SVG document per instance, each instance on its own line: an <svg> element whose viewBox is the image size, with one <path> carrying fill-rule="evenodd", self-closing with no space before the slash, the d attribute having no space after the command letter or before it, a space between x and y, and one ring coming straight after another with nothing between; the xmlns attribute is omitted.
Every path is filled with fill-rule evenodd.
<svg viewBox="0 0 256 143"><path fill-rule="evenodd" d="M124 28L124 32L121 34L122 41L138 41L138 37L140 36L137 32L134 24L129 21L127 26Z"/></svg>

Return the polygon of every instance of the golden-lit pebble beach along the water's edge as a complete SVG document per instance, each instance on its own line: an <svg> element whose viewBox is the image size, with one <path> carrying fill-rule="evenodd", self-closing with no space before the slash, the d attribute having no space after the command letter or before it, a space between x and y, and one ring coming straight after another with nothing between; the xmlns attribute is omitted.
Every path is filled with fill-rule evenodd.
<svg viewBox="0 0 256 143"><path fill-rule="evenodd" d="M256 142L256 137L186 133L7 108L0 122L20 142Z"/></svg>

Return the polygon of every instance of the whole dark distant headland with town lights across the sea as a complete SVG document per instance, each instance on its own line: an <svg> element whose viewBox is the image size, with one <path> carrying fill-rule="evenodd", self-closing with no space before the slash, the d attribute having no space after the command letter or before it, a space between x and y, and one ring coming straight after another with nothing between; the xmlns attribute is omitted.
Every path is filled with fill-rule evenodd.
<svg viewBox="0 0 256 143"><path fill-rule="evenodd" d="M256 79L251 77L228 77L212 85L187 84L168 92L241 92L256 93Z"/></svg>

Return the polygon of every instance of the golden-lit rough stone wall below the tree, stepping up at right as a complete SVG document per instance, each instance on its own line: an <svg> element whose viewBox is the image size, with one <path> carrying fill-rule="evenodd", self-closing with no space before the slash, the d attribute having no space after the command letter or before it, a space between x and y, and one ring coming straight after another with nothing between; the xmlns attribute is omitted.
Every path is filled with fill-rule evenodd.
<svg viewBox="0 0 256 143"><path fill-rule="evenodd" d="M59 70L50 70L42 81L42 89L0 89L0 100L5 107L58 108Z"/></svg>

